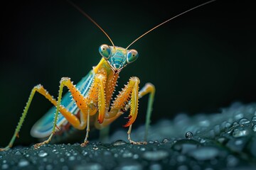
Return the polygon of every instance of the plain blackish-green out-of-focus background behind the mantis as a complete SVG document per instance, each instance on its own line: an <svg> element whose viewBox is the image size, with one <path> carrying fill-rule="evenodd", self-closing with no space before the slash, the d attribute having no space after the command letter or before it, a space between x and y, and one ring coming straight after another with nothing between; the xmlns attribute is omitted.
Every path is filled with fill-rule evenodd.
<svg viewBox="0 0 256 170"><path fill-rule="evenodd" d="M75 1L117 46L205 1ZM178 113L216 113L235 101L256 101L255 5L215 1L157 28L132 45L139 59L126 67L129 77L156 86L152 123ZM78 83L100 61L106 36L66 1L1 2L0 145L5 146L36 84L57 98L61 77ZM117 90L119 90L117 89ZM147 96L139 102L134 127L145 120ZM18 144L31 144L33 123L50 108L36 94ZM119 118L112 128L122 128Z"/></svg>

